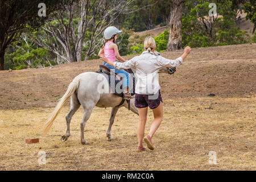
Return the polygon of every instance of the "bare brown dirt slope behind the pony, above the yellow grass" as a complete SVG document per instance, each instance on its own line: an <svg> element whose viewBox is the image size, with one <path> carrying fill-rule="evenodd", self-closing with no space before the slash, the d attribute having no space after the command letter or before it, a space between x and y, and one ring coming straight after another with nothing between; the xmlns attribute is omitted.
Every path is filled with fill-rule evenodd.
<svg viewBox="0 0 256 182"><path fill-rule="evenodd" d="M160 73L164 100L170 98L250 97L256 93L256 44L192 49L174 75ZM162 52L176 59L183 51ZM131 59L134 56L126 56ZM97 71L101 60L41 69L0 71L0 109L53 107L68 84L83 72Z"/></svg>

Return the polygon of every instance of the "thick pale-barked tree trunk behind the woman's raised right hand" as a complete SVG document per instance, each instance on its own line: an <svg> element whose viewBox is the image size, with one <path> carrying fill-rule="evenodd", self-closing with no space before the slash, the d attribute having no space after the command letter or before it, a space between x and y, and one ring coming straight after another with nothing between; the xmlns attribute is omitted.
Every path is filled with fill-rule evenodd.
<svg viewBox="0 0 256 182"><path fill-rule="evenodd" d="M169 20L169 40L167 44L167 50L177 50L182 48L182 0L171 1L171 12Z"/></svg>

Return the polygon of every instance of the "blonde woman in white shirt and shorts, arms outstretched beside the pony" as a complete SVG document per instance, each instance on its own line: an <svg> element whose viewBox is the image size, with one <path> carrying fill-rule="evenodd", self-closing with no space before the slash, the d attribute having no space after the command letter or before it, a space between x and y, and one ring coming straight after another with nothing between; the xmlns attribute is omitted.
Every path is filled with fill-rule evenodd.
<svg viewBox="0 0 256 182"><path fill-rule="evenodd" d="M154 150L152 144L152 137L155 131L160 126L163 119L163 100L160 94L160 85L158 80L158 71L163 67L177 67L183 63L183 60L189 52L190 47L185 47L183 55L176 60L166 59L155 53L155 40L152 37L147 37L144 40L144 49L140 56L135 56L133 59L126 61L125 63L112 62L108 60L108 57L100 55L101 59L106 63L112 65L116 69L135 69L135 76L137 77L137 83L135 86L135 106L138 107L139 122L138 122L138 151L146 150L143 147L142 140L144 137L144 129L147 121L147 107L150 107L154 113L154 120L151 123L150 131L144 141L147 143L147 147L150 150Z"/></svg>

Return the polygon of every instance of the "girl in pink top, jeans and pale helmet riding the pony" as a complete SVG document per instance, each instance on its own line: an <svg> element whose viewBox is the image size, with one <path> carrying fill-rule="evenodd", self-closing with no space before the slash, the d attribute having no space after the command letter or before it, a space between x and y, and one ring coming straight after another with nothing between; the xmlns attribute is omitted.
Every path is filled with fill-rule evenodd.
<svg viewBox="0 0 256 182"><path fill-rule="evenodd" d="M115 40L117 40L117 34L119 32L122 31L113 26L106 28L104 31L104 38L106 39L106 42L104 47L102 47L98 53L100 56L104 52L105 56L108 57L108 60L111 63L115 62L115 56L117 56L117 59L121 60L122 62L126 61L119 55L117 44L115 44ZM129 93L129 73L124 70L115 69L112 67L112 65L106 64L105 62L103 64L106 65L109 69L114 69L115 73L123 78L123 98L130 99L131 95Z"/></svg>

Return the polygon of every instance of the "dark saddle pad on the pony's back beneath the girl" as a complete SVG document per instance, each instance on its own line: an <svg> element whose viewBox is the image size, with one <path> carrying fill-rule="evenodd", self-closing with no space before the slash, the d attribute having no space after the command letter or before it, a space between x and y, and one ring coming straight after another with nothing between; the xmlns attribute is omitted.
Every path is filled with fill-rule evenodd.
<svg viewBox="0 0 256 182"><path fill-rule="evenodd" d="M131 71L131 69L128 69L129 73L133 73L133 71ZM104 72L102 72L101 69L99 69L96 73L100 73L102 75L104 75L107 80L109 81L109 85L110 85L110 89L112 90L112 92L114 92L115 95L119 96L119 97L123 97L123 92L118 92L118 89L115 89L116 88L116 85L119 83L119 82L122 82L122 79L121 80L118 80L117 76L114 77L115 81L112 81L111 79L113 79L113 76L110 77L109 74L106 74ZM131 80L129 80L131 82ZM121 85L121 86L117 86L118 88L120 88L120 90L122 90L122 84L119 83L118 85ZM130 90L130 94L131 96L133 96L135 94L135 77L133 77L133 92L131 92Z"/></svg>

